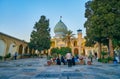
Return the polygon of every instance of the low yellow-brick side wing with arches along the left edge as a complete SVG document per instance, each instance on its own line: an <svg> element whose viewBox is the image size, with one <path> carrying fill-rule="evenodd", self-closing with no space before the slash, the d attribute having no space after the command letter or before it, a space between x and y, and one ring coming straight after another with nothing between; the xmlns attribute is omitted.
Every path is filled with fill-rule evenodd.
<svg viewBox="0 0 120 79"><path fill-rule="evenodd" d="M14 56L15 52L18 55L30 53L28 43L0 32L0 56L6 56L9 53Z"/></svg>

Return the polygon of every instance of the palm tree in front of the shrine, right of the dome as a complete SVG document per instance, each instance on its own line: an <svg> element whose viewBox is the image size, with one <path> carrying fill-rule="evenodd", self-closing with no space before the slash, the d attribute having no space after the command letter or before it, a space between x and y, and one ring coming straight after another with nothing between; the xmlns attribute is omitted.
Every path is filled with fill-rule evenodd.
<svg viewBox="0 0 120 79"><path fill-rule="evenodd" d="M74 35L75 34L73 34L73 31L68 30L66 35L64 36L63 41L67 43L67 47L70 47L71 38L73 38Z"/></svg>

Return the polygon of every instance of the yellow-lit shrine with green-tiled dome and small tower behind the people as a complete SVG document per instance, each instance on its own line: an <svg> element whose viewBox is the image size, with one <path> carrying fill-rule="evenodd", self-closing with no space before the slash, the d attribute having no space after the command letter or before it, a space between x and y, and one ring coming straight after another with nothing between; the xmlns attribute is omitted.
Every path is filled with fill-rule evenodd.
<svg viewBox="0 0 120 79"><path fill-rule="evenodd" d="M54 27L55 36L51 39L51 49L67 47L67 42L64 41L64 37L67 34L67 26L60 20ZM72 50L73 55L88 55L89 52L94 52L94 48L85 47L85 39L82 37L82 30L77 30L77 37L70 38L69 47Z"/></svg>

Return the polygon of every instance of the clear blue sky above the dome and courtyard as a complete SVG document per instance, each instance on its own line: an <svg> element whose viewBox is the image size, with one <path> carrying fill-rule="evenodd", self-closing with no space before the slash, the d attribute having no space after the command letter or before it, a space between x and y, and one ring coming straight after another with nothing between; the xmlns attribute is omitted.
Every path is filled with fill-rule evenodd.
<svg viewBox="0 0 120 79"><path fill-rule="evenodd" d="M88 0L0 0L0 32L29 42L35 22L45 15L50 20L51 36L62 21L77 34L85 35L85 3Z"/></svg>

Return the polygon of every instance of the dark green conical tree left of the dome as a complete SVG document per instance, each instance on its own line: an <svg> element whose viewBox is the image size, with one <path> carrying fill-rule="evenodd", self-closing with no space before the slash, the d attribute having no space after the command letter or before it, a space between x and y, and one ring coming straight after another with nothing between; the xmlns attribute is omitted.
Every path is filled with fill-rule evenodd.
<svg viewBox="0 0 120 79"><path fill-rule="evenodd" d="M50 39L49 20L42 15L40 20L34 25L29 47L38 51L47 50L50 48Z"/></svg>

